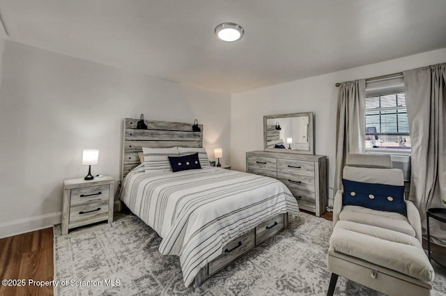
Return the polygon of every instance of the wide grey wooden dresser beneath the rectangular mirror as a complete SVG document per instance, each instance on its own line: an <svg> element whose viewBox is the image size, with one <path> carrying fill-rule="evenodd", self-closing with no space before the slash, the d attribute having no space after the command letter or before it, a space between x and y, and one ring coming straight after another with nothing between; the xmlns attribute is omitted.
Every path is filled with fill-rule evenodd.
<svg viewBox="0 0 446 296"><path fill-rule="evenodd" d="M270 151L246 153L248 173L282 181L298 201L299 208L321 216L327 207L327 159Z"/></svg>

